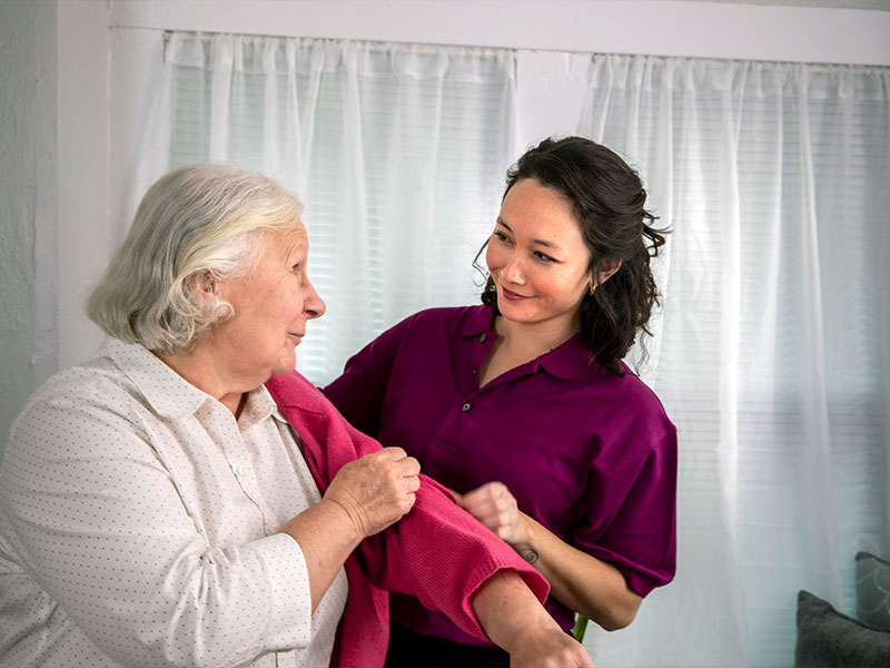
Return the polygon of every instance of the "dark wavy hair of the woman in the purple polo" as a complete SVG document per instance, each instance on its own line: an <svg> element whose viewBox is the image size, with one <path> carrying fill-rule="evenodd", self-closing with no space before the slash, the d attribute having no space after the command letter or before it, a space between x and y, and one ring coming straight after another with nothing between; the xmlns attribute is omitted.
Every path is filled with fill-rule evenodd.
<svg viewBox="0 0 890 668"><path fill-rule="evenodd" d="M531 178L562 194L572 205L591 253L590 271L604 259L621 259L621 268L596 285L581 304L581 331L597 361L624 375L621 360L637 334L647 328L659 291L650 259L664 245L666 230L652 226L640 176L615 153L583 137L544 139L507 170L504 196ZM483 247L484 248L484 247ZM482 255L482 250L479 252ZM476 263L478 267L478 255ZM488 276L482 302L497 311L497 292Z"/></svg>

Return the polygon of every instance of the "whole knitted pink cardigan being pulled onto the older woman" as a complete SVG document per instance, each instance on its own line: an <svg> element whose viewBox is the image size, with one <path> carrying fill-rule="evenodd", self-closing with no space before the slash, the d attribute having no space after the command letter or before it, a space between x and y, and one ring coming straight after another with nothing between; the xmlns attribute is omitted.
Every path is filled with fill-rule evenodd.
<svg viewBox="0 0 890 668"><path fill-rule="evenodd" d="M345 463L379 450L353 429L312 383L294 372L266 387L303 442L324 494ZM389 596L411 593L442 610L465 631L485 633L469 597L492 574L512 569L543 602L547 581L504 541L461 510L437 482L421 475L414 508L386 531L362 542L346 561L349 597L337 629L332 666L382 667L389 641Z"/></svg>

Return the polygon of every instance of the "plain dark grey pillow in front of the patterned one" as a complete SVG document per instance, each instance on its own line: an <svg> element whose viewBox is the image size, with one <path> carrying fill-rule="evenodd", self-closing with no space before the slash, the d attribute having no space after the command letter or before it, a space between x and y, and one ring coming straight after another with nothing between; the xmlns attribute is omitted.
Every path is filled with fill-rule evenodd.
<svg viewBox="0 0 890 668"><path fill-rule="evenodd" d="M798 593L794 668L888 668L890 631L838 612L809 591Z"/></svg>

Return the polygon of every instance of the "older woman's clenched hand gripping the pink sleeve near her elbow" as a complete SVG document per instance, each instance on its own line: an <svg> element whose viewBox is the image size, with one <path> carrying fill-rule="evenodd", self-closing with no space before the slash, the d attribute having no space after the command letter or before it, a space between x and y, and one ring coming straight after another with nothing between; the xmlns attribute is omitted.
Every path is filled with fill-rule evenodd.
<svg viewBox="0 0 890 668"><path fill-rule="evenodd" d="M325 500L346 511L363 538L374 536L414 505L421 464L400 448L384 448L345 464L325 492Z"/></svg>

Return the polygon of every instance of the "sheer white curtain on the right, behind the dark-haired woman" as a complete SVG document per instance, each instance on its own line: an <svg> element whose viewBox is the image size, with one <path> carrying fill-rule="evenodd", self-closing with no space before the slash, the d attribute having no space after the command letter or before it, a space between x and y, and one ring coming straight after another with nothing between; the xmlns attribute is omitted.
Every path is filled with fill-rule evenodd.
<svg viewBox="0 0 890 668"><path fill-rule="evenodd" d="M790 666L799 589L890 556L886 69L596 56L578 131L670 226L646 375L680 430L679 554L606 666Z"/></svg>

